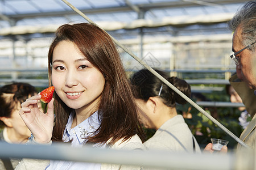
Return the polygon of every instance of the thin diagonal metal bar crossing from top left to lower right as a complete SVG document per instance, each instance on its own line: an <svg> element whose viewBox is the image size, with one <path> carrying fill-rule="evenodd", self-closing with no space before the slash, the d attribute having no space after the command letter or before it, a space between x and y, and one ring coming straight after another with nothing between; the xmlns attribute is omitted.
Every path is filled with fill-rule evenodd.
<svg viewBox="0 0 256 170"><path fill-rule="evenodd" d="M72 10L74 10L75 12L77 12L77 14L81 15L82 18L86 19L89 23L97 25L96 23L94 23L92 20L90 20L88 18L88 16L86 16L84 13L82 13L80 10L78 10L75 6L73 6L71 3L69 3L67 0L61 0L63 1L65 4L67 4L69 7L72 8ZM100 27L99 25L97 25L98 27ZM101 27L100 27L101 28ZM102 29L102 28L101 28ZM104 29L103 29L104 30ZM108 33L108 32L106 32ZM108 33L109 35L109 33ZM110 37L112 37L111 35L109 35ZM127 49L125 46L123 46L120 42L118 42L117 40L114 39L114 37L112 37L112 40L115 42L115 44L117 44L120 48L122 48L126 53L130 54L131 57L133 57L136 61L138 61L139 63L141 63L142 66L144 66L147 70L149 70L152 74L154 74L157 78L159 78L160 80L162 80L163 83L165 83L168 87L170 87L172 90L174 90L177 94L179 94L181 97L183 97L183 99L187 100L189 104L191 104L193 107L195 107L199 112L203 113L204 116L206 116L207 118L209 118L210 121L212 121L214 124L216 124L219 128L221 128L223 131L225 131L225 133L227 133L228 135L230 135L230 137L232 137L234 140L236 140L238 143L240 143L241 146L244 146L246 148L250 148L249 146L246 145L245 142L241 141L241 139L239 139L236 135L234 135L230 130L228 130L225 126L223 126L220 122L218 122L215 118L213 118L212 116L210 116L210 114L208 114L206 111L204 111L204 109L202 109L199 105L197 105L193 100L189 99L189 97L187 97L186 95L183 94L183 92L179 91L174 85L172 85L170 82L168 82L168 80L164 79L163 76L161 76L160 74L158 74L154 69L152 69L150 66L148 66L146 63L144 63L141 59L139 59L137 56L135 56L135 54L133 54L132 52L130 52L129 49Z"/></svg>

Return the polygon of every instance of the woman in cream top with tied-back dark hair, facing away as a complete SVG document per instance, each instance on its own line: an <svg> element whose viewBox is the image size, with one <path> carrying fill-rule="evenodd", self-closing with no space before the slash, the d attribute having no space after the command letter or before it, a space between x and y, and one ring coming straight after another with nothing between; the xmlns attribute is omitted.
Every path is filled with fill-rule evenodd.
<svg viewBox="0 0 256 170"><path fill-rule="evenodd" d="M185 95L191 95L191 88L185 80L156 71ZM145 69L131 77L131 84L137 104L142 110L142 123L146 128L156 129L156 133L144 142L148 149L200 152L183 116L176 111L176 103L185 104L187 101Z"/></svg>

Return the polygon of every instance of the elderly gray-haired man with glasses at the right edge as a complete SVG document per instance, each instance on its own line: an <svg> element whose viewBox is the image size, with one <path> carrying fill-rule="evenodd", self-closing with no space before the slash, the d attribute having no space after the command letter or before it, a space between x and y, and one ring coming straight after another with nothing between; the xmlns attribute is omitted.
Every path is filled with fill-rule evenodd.
<svg viewBox="0 0 256 170"><path fill-rule="evenodd" d="M246 110L252 117L250 124L243 130L240 139L250 148L237 145L236 169L255 169L256 155L256 1L246 2L245 5L230 20L229 28L234 31L230 57L237 67L237 74L229 79L230 84L241 96ZM205 151L213 152L211 143ZM226 152L226 147L222 147ZM254 155L254 156L253 156Z"/></svg>

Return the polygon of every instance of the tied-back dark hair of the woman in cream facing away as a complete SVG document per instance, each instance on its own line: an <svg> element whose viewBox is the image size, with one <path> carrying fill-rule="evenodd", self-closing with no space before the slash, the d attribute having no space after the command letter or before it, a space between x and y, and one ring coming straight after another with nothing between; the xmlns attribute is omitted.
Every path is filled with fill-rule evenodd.
<svg viewBox="0 0 256 170"><path fill-rule="evenodd" d="M155 69L155 71L162 75L165 79L167 79L168 82L174 85L186 96L191 96L191 87L187 82L185 82L185 80L179 79L175 76L169 77L167 73L160 70ZM133 87L135 98L137 99L147 101L149 97L158 96L160 88L163 85L159 97L161 97L164 104L166 104L168 107L175 107L176 103L187 103L187 101L184 100L183 97L178 95L175 91L173 91L170 87L164 84L159 78L157 78L147 69L143 69L135 73L130 78L130 81Z"/></svg>

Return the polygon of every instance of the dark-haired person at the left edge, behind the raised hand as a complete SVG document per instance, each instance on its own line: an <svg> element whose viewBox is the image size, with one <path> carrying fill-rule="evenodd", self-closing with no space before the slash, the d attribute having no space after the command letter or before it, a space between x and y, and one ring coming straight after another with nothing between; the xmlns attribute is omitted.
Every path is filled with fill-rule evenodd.
<svg viewBox="0 0 256 170"><path fill-rule="evenodd" d="M12 83L0 88L0 140L8 143L26 143L30 130L19 116L20 104L36 95L34 86L27 83ZM39 101L40 107L40 101ZM13 167L20 159L11 159ZM5 169L0 160L0 169Z"/></svg>

